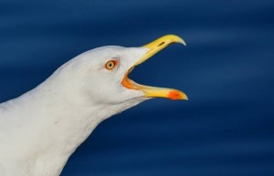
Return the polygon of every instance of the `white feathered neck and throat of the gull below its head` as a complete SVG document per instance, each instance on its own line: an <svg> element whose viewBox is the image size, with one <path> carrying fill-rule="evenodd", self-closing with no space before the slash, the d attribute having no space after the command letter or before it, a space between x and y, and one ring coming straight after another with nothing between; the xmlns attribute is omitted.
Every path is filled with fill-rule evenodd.
<svg viewBox="0 0 274 176"><path fill-rule="evenodd" d="M9 138L0 141L0 156L11 160L5 161L6 167L17 164L22 168L11 175L58 176L69 156L102 120L144 100L102 105L77 92L68 82L48 78L23 96L1 104L0 119L7 120L5 126L0 123L0 131Z"/></svg>

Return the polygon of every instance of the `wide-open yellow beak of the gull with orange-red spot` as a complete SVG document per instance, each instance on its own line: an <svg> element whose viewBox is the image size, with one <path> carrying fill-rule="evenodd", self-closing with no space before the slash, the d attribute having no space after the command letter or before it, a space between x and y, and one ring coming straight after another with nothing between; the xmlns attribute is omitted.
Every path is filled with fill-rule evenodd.
<svg viewBox="0 0 274 176"><path fill-rule="evenodd" d="M179 36L174 35L168 35L168 36L162 36L153 42L143 46L148 49L146 54L139 59L133 67L131 67L127 73L124 75L124 78L121 81L121 85L125 88L129 89L136 89L141 90L144 93L145 98L170 98L170 99L185 99L187 100L187 96L184 94L184 92L174 89L174 88L155 88L155 87L149 87L140 85L138 83L135 83L132 81L132 79L128 78L128 75L132 71L132 69L139 64L142 64L145 60L149 59L150 57L153 57L156 53L161 51L163 48L169 46L172 43L181 43L185 46L184 40Z"/></svg>

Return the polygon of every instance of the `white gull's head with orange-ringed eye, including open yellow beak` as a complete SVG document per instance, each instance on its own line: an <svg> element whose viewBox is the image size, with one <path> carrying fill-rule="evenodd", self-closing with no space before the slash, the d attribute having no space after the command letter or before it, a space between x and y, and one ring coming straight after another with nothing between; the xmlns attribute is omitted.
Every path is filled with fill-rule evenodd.
<svg viewBox="0 0 274 176"><path fill-rule="evenodd" d="M180 90L144 86L129 78L135 67L172 43L185 45L179 36L168 35L142 47L98 47L71 59L57 72L66 72L70 94L78 94L78 98L81 94L97 105L136 104L149 98L187 99Z"/></svg>

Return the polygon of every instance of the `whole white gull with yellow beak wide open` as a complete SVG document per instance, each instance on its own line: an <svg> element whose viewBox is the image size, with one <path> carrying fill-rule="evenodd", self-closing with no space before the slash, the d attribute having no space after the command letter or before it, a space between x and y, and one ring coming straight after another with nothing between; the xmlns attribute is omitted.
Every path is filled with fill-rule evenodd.
<svg viewBox="0 0 274 176"><path fill-rule="evenodd" d="M0 175L58 176L104 119L150 98L187 99L174 88L144 86L132 69L179 36L143 47L98 47L72 58L43 83L0 104Z"/></svg>

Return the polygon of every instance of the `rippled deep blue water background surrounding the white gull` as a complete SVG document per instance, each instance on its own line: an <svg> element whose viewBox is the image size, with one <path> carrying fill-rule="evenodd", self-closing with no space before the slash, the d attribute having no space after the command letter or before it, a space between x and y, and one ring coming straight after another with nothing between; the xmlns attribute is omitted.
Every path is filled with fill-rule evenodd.
<svg viewBox="0 0 274 176"><path fill-rule="evenodd" d="M273 176L274 1L0 1L0 101L90 48L182 36L137 67L184 90L100 124L62 176Z"/></svg>

